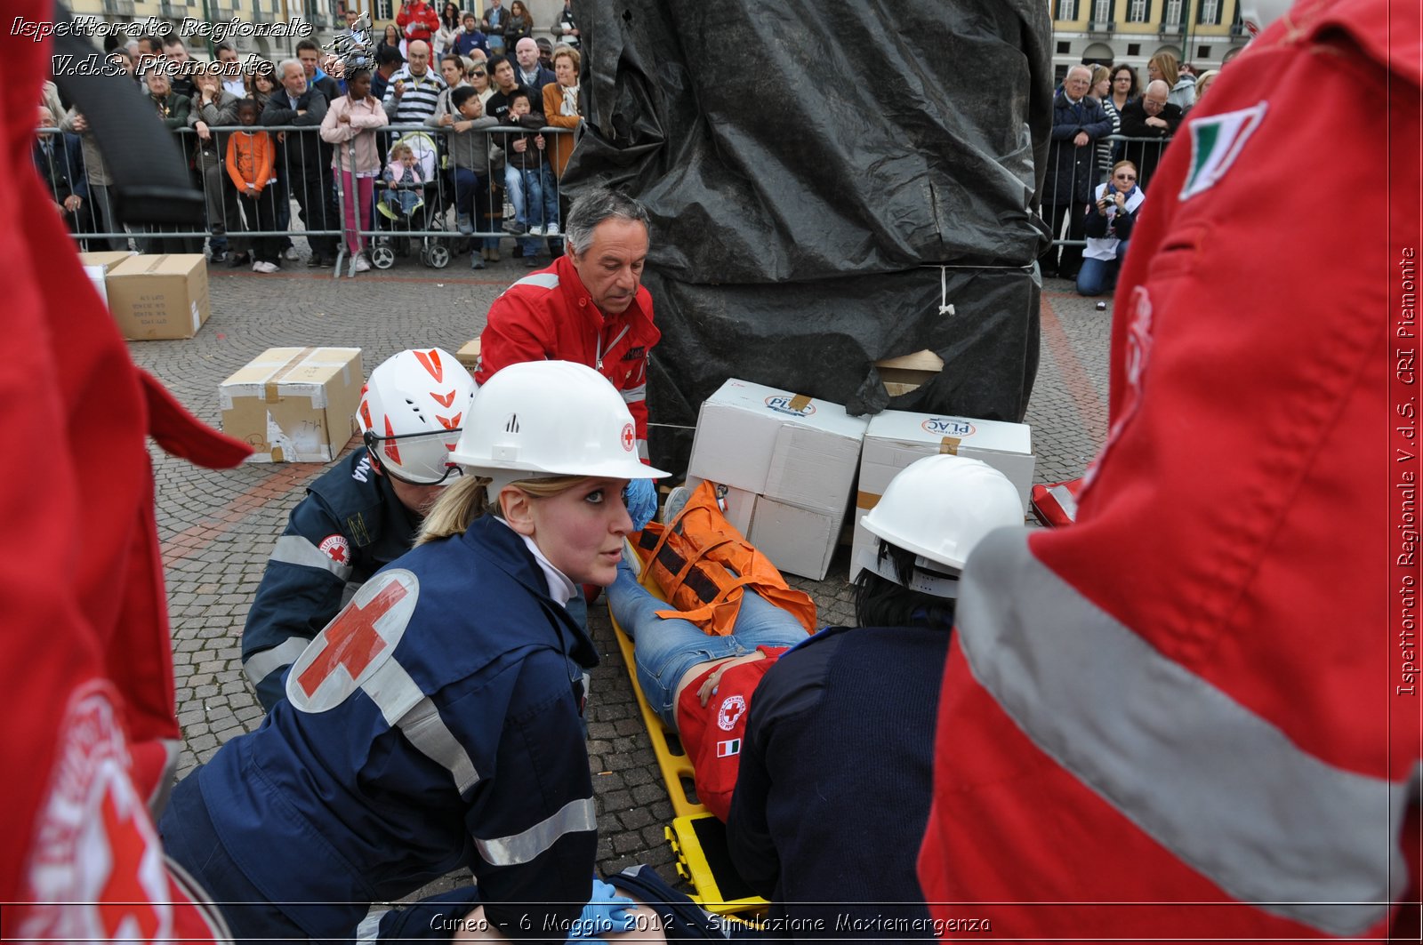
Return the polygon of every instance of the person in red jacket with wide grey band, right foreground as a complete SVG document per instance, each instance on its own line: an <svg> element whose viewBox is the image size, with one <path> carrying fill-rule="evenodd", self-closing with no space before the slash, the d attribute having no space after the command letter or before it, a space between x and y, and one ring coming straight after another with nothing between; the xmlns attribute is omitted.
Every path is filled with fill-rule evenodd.
<svg viewBox="0 0 1423 945"><path fill-rule="evenodd" d="M1167 149L1077 521L965 571L945 935L1417 935L1420 61L1416 4L1301 0Z"/></svg>

